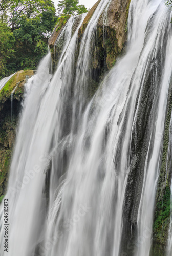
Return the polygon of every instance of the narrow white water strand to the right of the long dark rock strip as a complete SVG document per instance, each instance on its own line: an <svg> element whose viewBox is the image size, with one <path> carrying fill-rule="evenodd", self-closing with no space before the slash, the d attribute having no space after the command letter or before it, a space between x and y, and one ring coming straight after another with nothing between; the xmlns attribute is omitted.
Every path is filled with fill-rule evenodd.
<svg viewBox="0 0 172 256"><path fill-rule="evenodd" d="M149 72L154 73L152 86L155 87L155 91L153 90L154 95L152 95L154 97L154 104L149 114L152 119L148 124L149 135L147 137L149 138L149 146L144 166L144 182L137 217L139 236L144 238L146 246L144 243L140 244L136 253L139 256L149 255L150 251L152 233L149 232L145 236L145 228L147 227L149 230L152 228L155 193L161 167L162 137L165 125L168 88L172 75L172 55L170 53L172 34L169 24L170 19L170 12L167 11L163 3L160 4L156 16L152 21L154 33L152 33L152 36L150 36L147 42L149 45L149 56L152 58L149 59L150 66L148 68L150 69ZM139 97L142 97L142 92ZM136 111L136 115L139 114L139 104L137 110L138 113Z"/></svg>

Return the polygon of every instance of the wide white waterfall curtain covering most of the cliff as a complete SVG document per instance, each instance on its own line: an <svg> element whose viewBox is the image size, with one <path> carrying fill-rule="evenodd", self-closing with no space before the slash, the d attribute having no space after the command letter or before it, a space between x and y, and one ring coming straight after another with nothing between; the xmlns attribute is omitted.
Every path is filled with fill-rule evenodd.
<svg viewBox="0 0 172 256"><path fill-rule="evenodd" d="M172 75L171 16L164 1L131 0L126 54L86 103L90 47L109 3L99 3L85 29L76 71L86 14L75 33L76 17L63 29L55 74L49 53L27 83L5 196L9 256L149 255Z"/></svg>

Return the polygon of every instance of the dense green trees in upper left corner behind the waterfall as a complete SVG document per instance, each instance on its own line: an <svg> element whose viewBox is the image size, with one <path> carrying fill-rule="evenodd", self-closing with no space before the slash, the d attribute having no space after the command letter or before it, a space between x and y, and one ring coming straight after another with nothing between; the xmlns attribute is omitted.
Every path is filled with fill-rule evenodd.
<svg viewBox="0 0 172 256"><path fill-rule="evenodd" d="M36 69L57 23L51 0L11 1L7 9L5 3L0 4L0 79L21 69Z"/></svg>

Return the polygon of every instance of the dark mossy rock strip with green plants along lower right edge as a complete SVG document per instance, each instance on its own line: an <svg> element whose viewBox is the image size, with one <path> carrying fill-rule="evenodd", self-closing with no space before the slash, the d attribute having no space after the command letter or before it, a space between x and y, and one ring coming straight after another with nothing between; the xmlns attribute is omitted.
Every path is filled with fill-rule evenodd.
<svg viewBox="0 0 172 256"><path fill-rule="evenodd" d="M162 163L156 195L155 217L153 225L153 247L159 244L166 247L170 223L170 166L168 162L169 128L172 110L172 86L169 88L167 101L167 115L163 138ZM163 249L164 250L164 249ZM158 254L157 254L158 255Z"/></svg>

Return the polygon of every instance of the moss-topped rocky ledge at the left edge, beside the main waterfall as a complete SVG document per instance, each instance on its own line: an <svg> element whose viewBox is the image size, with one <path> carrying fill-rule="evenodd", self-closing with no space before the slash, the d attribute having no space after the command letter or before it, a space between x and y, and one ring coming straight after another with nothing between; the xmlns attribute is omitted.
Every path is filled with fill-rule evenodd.
<svg viewBox="0 0 172 256"><path fill-rule="evenodd" d="M0 200L7 187L24 84L33 74L33 70L18 71L0 91Z"/></svg>

